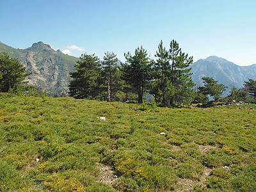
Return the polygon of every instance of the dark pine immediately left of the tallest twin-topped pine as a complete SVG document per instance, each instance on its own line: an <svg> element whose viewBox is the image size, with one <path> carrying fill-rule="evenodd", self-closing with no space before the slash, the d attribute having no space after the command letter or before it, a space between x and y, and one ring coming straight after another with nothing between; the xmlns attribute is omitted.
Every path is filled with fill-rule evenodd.
<svg viewBox="0 0 256 192"><path fill-rule="evenodd" d="M142 103L143 93L147 90L148 81L151 79L152 61L142 46L135 50L134 56L129 52L124 56L127 62L122 64L123 78L131 85L132 92L138 94L138 103Z"/></svg>

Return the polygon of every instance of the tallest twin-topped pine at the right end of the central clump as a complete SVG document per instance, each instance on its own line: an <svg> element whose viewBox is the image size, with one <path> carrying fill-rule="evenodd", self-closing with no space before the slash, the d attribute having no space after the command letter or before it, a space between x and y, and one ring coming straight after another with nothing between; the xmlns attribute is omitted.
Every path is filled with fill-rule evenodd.
<svg viewBox="0 0 256 192"><path fill-rule="evenodd" d="M172 40L169 51L163 47L163 41L158 46L157 61L154 65L154 81L150 93L164 106L187 104L193 100L195 86L191 79L193 58L179 48Z"/></svg>

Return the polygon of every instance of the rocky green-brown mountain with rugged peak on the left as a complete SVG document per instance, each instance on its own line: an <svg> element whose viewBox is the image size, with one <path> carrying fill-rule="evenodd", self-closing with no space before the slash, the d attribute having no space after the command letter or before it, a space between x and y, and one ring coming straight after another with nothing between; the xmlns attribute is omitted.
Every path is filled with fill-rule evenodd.
<svg viewBox="0 0 256 192"><path fill-rule="evenodd" d="M76 57L54 51L51 46L38 42L27 49L14 49L0 42L0 52L7 52L18 58L26 67L29 84L36 86L49 95L61 94L68 91L69 72L74 72L74 65L79 60Z"/></svg>

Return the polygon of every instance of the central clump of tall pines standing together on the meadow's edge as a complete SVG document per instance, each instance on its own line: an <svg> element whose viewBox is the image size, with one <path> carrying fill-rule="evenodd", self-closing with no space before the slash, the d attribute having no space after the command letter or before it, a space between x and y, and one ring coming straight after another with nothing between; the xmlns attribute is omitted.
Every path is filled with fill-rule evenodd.
<svg viewBox="0 0 256 192"><path fill-rule="evenodd" d="M166 50L163 42L156 52L157 61L151 60L141 46L134 54L124 53L126 62L117 65L116 54L105 52L104 60L95 54L82 54L71 72L70 96L77 99L132 100L143 102L146 92L154 95L161 106L177 106L193 101L195 91L191 79L193 58L181 51L172 40Z"/></svg>

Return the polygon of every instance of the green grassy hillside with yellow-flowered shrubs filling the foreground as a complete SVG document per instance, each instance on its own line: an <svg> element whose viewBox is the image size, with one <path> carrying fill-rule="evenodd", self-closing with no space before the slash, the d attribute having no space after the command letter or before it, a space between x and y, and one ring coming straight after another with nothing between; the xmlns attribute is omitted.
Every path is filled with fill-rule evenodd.
<svg viewBox="0 0 256 192"><path fill-rule="evenodd" d="M253 191L250 108L1 93L0 191Z"/></svg>

